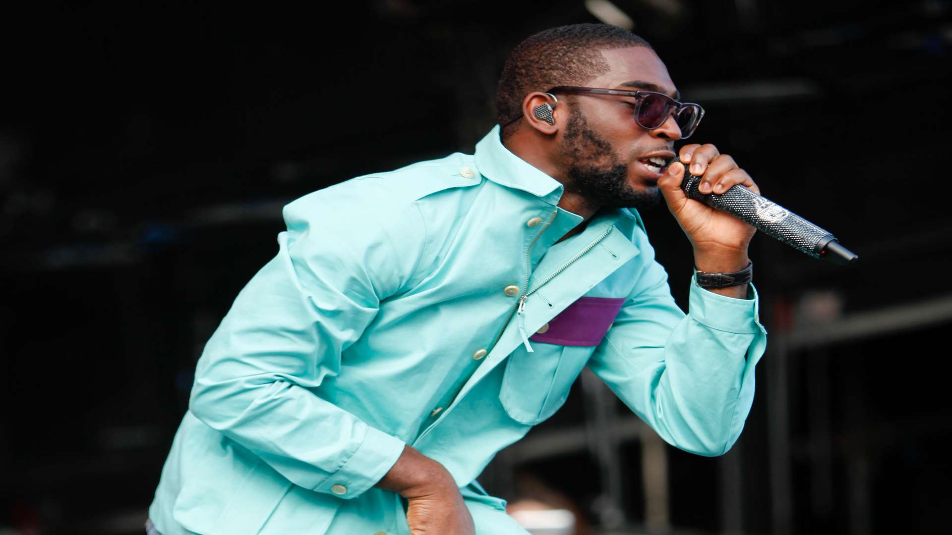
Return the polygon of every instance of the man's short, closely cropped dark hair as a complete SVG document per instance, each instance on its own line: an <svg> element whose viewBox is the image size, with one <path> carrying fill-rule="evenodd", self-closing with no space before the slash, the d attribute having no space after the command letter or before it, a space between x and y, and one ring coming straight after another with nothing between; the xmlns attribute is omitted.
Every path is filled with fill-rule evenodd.
<svg viewBox="0 0 952 535"><path fill-rule="evenodd" d="M584 86L608 70L600 50L628 47L651 49L645 39L610 24L560 26L526 38L506 57L496 89L496 122L503 126L502 138L515 131L514 121L522 116L528 93Z"/></svg>

